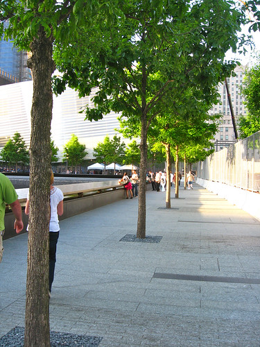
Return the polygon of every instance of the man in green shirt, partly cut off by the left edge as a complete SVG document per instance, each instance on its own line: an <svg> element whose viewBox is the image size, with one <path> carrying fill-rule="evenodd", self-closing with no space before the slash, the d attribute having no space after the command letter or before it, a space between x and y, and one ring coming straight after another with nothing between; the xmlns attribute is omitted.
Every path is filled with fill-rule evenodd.
<svg viewBox="0 0 260 347"><path fill-rule="evenodd" d="M15 192L15 187L12 185L11 181L0 174L0 262L3 257L3 232L4 217L6 212L6 203L12 208L13 214L15 214L15 225L14 229L19 234L24 228L24 223L21 219L21 205L18 201L17 193Z"/></svg>

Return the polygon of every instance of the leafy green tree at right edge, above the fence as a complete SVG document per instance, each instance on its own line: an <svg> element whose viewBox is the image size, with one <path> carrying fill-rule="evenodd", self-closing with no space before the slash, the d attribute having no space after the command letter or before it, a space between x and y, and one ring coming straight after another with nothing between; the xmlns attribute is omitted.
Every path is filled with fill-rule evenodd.
<svg viewBox="0 0 260 347"><path fill-rule="evenodd" d="M239 137L241 139L260 130L260 64L246 71L243 94L248 115L239 117Z"/></svg>

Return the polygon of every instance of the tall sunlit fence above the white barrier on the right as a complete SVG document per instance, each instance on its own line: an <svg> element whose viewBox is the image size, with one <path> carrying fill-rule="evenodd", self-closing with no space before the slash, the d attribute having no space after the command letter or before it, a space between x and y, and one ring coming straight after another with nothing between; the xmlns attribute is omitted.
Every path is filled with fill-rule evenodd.
<svg viewBox="0 0 260 347"><path fill-rule="evenodd" d="M260 131L198 163L198 178L260 192Z"/></svg>

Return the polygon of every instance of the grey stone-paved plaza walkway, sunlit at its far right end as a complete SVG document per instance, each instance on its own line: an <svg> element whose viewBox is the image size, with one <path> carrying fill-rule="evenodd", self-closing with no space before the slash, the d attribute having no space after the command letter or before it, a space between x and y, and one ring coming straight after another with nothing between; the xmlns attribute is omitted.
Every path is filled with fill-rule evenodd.
<svg viewBox="0 0 260 347"><path fill-rule="evenodd" d="M193 187L178 199L172 188L171 210L165 192L147 192L146 242L138 198L60 222L52 332L101 347L260 346L260 221ZM3 246L0 346L24 327L27 235Z"/></svg>

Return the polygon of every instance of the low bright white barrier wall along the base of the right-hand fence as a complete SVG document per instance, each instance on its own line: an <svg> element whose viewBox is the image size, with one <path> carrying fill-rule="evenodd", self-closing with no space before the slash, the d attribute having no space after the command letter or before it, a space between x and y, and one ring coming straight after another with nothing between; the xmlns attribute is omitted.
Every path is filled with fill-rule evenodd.
<svg viewBox="0 0 260 347"><path fill-rule="evenodd" d="M209 192L225 198L229 203L236 205L241 210L260 220L260 194L245 189L225 185L211 180L197 178L196 183L205 187Z"/></svg>

